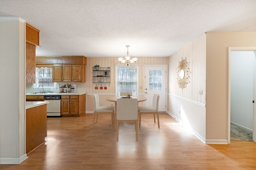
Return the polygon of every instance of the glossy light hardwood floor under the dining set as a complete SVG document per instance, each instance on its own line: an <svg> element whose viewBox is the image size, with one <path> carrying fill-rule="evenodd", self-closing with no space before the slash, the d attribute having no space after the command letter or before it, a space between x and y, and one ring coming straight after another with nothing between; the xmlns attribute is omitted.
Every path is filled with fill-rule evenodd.
<svg viewBox="0 0 256 170"><path fill-rule="evenodd" d="M134 124L120 123L119 141L110 115L47 118L48 141L21 164L0 170L250 170L256 169L256 143L206 145L167 113L142 115L136 142Z"/></svg>

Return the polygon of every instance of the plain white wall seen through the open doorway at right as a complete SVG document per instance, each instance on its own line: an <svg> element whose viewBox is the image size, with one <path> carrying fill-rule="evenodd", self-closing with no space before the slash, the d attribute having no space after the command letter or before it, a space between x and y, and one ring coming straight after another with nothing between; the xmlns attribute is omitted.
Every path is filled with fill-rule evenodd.
<svg viewBox="0 0 256 170"><path fill-rule="evenodd" d="M230 121L251 131L254 61L253 51L231 51Z"/></svg>

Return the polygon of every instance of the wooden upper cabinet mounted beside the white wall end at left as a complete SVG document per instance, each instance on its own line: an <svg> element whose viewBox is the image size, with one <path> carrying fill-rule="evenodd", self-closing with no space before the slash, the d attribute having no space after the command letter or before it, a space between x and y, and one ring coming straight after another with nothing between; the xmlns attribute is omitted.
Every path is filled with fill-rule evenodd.
<svg viewBox="0 0 256 170"><path fill-rule="evenodd" d="M26 84L36 83L36 46L39 30L26 23Z"/></svg>

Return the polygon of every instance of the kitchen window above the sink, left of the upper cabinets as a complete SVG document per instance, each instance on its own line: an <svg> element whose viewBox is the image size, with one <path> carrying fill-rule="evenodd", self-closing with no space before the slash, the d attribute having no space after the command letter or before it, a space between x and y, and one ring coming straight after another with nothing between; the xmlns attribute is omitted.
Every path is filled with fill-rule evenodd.
<svg viewBox="0 0 256 170"><path fill-rule="evenodd" d="M37 89L39 86L48 89L57 88L57 83L52 82L52 68L36 68L36 83L33 84L33 88Z"/></svg>

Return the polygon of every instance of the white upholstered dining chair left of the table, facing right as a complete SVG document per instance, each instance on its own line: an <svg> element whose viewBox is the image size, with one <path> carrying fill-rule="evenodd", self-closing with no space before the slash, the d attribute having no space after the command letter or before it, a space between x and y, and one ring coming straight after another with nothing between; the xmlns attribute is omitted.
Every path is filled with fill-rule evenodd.
<svg viewBox="0 0 256 170"><path fill-rule="evenodd" d="M114 122L114 106L100 106L100 100L98 94L93 94L93 118L92 118L92 127L94 127L94 123L98 122L98 114L111 114L111 127L113 128ZM96 122L94 122L96 115Z"/></svg>

